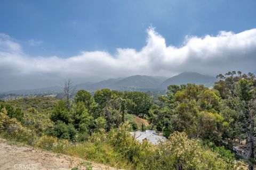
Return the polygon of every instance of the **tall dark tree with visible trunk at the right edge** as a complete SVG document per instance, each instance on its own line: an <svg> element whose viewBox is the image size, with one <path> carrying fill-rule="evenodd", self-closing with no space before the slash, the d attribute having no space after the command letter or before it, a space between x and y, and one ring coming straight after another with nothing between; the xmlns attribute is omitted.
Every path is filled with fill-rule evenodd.
<svg viewBox="0 0 256 170"><path fill-rule="evenodd" d="M256 118L256 79L254 74L242 74L235 71L224 75L218 75L220 80L215 83L214 88L220 91L221 97L225 99L224 104L229 107L221 107L225 112L231 113L226 116L233 123L235 137L246 140L248 157L254 159L255 147L255 118ZM225 105L224 105L225 106ZM236 114L234 114L236 113ZM238 116L238 117L237 117ZM239 128L237 128L239 127ZM253 169L250 165L249 169Z"/></svg>

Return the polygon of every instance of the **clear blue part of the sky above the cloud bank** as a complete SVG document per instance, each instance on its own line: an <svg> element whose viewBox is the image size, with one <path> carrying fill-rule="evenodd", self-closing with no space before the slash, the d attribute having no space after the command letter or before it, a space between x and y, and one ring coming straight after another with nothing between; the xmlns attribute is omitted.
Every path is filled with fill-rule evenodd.
<svg viewBox="0 0 256 170"><path fill-rule="evenodd" d="M256 1L20 1L0 2L0 32L29 55L68 57L81 50L142 48L152 25L167 45L186 35L217 35L256 27ZM30 45L31 40L39 42Z"/></svg>

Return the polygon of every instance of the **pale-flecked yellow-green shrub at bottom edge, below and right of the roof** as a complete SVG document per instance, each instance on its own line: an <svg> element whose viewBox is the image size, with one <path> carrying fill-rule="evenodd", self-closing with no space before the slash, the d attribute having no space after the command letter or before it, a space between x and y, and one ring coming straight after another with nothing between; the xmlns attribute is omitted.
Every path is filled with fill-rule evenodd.
<svg viewBox="0 0 256 170"><path fill-rule="evenodd" d="M157 148L157 169L233 169L225 159L204 147L201 141L188 139L184 132L174 132ZM150 168L150 167L149 167Z"/></svg>

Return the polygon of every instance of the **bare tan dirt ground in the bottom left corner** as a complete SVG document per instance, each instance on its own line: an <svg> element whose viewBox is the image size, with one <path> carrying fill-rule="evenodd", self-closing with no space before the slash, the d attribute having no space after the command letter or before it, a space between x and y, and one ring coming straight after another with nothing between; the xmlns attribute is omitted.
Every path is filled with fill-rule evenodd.
<svg viewBox="0 0 256 170"><path fill-rule="evenodd" d="M53 154L32 147L19 147L8 144L5 140L0 139L0 169L18 169L18 170L66 170L78 167L78 169L109 169L102 164L88 165L86 160L71 157L67 155Z"/></svg>

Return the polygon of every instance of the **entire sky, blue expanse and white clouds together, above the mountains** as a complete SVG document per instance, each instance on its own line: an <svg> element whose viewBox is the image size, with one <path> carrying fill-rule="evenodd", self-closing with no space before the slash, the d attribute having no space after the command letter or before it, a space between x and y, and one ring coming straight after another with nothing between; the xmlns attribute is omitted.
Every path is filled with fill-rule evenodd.
<svg viewBox="0 0 256 170"><path fill-rule="evenodd" d="M0 1L0 91L256 72L256 1Z"/></svg>

